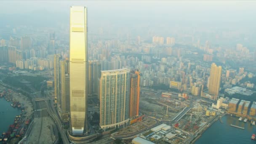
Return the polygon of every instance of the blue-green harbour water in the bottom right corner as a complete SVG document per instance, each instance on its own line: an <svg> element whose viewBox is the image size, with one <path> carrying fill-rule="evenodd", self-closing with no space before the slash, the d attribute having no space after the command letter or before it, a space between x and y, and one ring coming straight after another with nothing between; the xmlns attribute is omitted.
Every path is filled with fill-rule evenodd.
<svg viewBox="0 0 256 144"><path fill-rule="evenodd" d="M251 140L251 135L256 134L256 125L238 121L239 117L225 115L222 117L223 123L217 120L208 128L195 144L256 144ZM235 128L230 125L237 125L245 129Z"/></svg>

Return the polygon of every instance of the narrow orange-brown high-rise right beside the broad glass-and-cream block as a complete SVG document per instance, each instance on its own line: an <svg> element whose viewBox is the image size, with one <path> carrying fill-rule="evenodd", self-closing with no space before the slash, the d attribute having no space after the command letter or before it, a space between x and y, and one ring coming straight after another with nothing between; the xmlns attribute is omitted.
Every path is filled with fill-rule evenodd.
<svg viewBox="0 0 256 144"><path fill-rule="evenodd" d="M139 94L140 94L140 74L138 71L131 74L130 91L130 118L139 116Z"/></svg>

